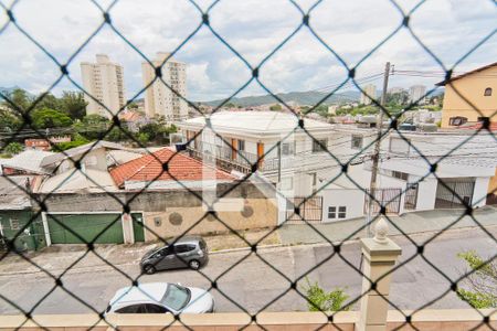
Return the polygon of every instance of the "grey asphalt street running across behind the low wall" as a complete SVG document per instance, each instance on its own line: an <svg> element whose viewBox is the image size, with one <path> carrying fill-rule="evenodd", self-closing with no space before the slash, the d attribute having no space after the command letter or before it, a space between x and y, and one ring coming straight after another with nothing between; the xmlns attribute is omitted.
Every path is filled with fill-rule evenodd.
<svg viewBox="0 0 497 331"><path fill-rule="evenodd" d="M495 227L488 229L496 235ZM412 239L421 244L431 236L433 234L415 235ZM423 257L413 258L416 248L410 239L396 236L394 241L403 249L399 263L409 260L392 278L390 300L400 309L417 309L435 299L430 308L468 308L454 292L444 295L451 279L458 278L465 270L457 253L474 249L489 257L497 252L497 243L479 229L442 234L426 245ZM139 276L136 264L97 271L87 268L78 271L75 265L72 273L62 276L63 288L42 273L0 276L0 313L20 313L11 303L39 314L103 311L115 291L129 286L134 279L210 288L216 311L307 310L305 299L290 289L290 281L297 280L297 289L304 292L305 276L327 290L345 288L349 300L360 293L361 277L355 269L360 265L360 244L343 245L340 255L331 256L332 253L330 246L304 245L260 249L256 254L248 250L212 254L209 265L200 273L177 270L151 276ZM212 288L211 281L215 281L216 288ZM357 308L358 303L352 309Z"/></svg>

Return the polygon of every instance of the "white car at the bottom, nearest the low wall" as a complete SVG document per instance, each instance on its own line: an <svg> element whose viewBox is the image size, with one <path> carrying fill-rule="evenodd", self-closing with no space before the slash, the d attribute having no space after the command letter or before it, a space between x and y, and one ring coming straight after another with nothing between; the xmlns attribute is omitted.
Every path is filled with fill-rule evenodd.
<svg viewBox="0 0 497 331"><path fill-rule="evenodd" d="M117 290L105 313L203 313L214 311L208 291L171 282L147 282Z"/></svg>

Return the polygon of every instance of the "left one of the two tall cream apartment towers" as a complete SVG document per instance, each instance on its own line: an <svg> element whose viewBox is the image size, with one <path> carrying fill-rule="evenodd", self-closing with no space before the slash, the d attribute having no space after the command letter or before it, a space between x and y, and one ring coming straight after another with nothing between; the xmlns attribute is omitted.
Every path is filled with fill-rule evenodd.
<svg viewBox="0 0 497 331"><path fill-rule="evenodd" d="M81 74L83 87L98 100L85 94L86 115L112 118L126 105L123 66L110 62L107 55L97 54L96 63L82 62Z"/></svg>

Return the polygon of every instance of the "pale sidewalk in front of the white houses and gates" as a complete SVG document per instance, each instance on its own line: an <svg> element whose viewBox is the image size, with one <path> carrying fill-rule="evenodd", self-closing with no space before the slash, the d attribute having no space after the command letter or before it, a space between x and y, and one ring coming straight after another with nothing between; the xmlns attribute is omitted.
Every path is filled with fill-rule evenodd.
<svg viewBox="0 0 497 331"><path fill-rule="evenodd" d="M391 235L401 234L398 227L405 234L438 232L455 222L463 213L463 210L438 210L406 213L402 216L390 216L390 221L394 224L390 224L390 233ZM474 217L483 226L497 225L497 209L494 206L478 209L474 212ZM361 217L332 223L313 224L320 234L307 224L284 225L279 228L278 234L283 245L325 243L327 239L330 242L341 242L363 237L366 235L366 229L363 228L364 222L366 218ZM464 216L451 229L475 226L478 225L473 218ZM362 229L360 229L361 227Z"/></svg>

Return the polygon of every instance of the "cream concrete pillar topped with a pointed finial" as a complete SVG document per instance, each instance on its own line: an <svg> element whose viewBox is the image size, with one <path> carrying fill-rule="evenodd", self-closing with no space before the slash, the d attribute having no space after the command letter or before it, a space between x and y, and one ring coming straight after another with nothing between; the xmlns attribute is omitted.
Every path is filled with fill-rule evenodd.
<svg viewBox="0 0 497 331"><path fill-rule="evenodd" d="M381 217L374 226L374 237L361 239L363 255L362 298L358 331L387 329L387 311L391 270L402 249L389 237L389 225Z"/></svg>

